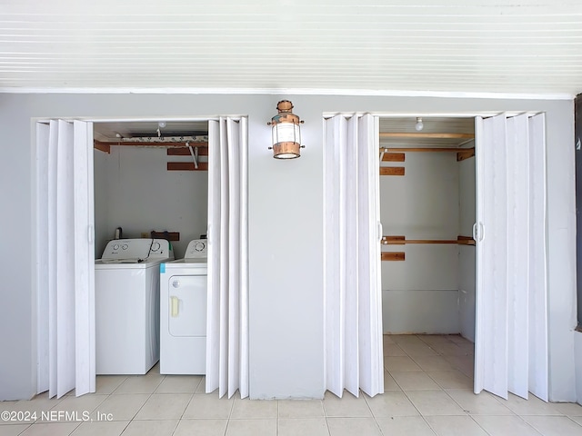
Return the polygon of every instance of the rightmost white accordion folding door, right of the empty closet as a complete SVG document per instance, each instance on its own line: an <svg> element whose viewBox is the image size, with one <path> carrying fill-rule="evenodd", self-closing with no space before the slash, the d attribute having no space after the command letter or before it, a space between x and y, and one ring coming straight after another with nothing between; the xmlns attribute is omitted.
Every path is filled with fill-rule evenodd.
<svg viewBox="0 0 582 436"><path fill-rule="evenodd" d="M526 114L476 121L476 393L547 400L543 122Z"/></svg>

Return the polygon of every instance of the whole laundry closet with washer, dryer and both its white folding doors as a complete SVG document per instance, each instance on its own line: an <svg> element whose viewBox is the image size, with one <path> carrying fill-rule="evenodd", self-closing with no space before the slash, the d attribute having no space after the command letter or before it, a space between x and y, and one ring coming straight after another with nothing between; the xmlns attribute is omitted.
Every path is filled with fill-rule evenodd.
<svg viewBox="0 0 582 436"><path fill-rule="evenodd" d="M36 123L36 380L37 393L49 391L49 398L73 389L77 396L94 392L95 374L161 373L156 362L163 356L182 360L176 353L187 351L184 342L193 338L207 343L200 359L206 367L189 370L206 373L206 391L220 388L222 396L228 387L231 397L240 388L241 397L248 396L246 117L150 120ZM229 202L221 196L226 191ZM206 236L226 241L238 255L226 255L216 244L206 250L208 261L208 254L196 253L205 250ZM187 277L163 282L166 270L175 271L166 263L175 259L183 262L178 269ZM230 274L232 296L218 295L231 271L237 272ZM190 280L207 272L215 274L214 284ZM206 303L195 298L196 311L210 314L208 322L186 316L195 310L189 300L194 292L187 293L187 303L180 298L185 292L168 291L162 299L162 283L168 290L170 285L196 288L194 297L210 294ZM165 310L161 301L173 305ZM226 319L222 307L238 311L229 310ZM224 322L239 332L231 341L232 347L240 347L238 354L217 352ZM105 333L111 333L111 340L103 340ZM202 335L206 339L198 341ZM181 343L164 352L169 336ZM127 352L130 348L139 350ZM100 370L104 355L115 368ZM240 383L218 374L226 360L241 368ZM121 367L130 361L131 368ZM177 371L183 372L165 373Z"/></svg>

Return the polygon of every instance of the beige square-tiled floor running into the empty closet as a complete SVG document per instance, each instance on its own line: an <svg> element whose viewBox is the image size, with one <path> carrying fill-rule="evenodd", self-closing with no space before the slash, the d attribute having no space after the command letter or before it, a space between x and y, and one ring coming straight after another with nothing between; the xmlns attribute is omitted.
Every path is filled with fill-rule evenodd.
<svg viewBox="0 0 582 436"><path fill-rule="evenodd" d="M459 336L391 335L384 345L385 393L374 398L328 392L323 401L219 400L204 393L202 377L154 368L145 376L99 376L97 392L79 398L0 402L0 411L53 413L34 423L0 421L0 435L582 436L577 404L474 395L473 346ZM84 412L94 421L84 422Z"/></svg>

